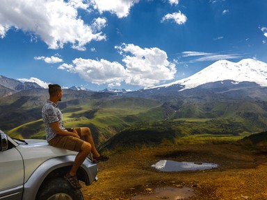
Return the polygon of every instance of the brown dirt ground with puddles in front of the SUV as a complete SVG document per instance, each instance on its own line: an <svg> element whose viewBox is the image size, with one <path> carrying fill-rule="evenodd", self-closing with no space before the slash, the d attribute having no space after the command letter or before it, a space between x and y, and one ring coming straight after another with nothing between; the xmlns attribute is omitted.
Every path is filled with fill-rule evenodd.
<svg viewBox="0 0 267 200"><path fill-rule="evenodd" d="M216 163L218 168L160 172L151 167L162 159ZM109 161L99 163L98 178L83 186L85 200L133 199L165 187L193 188L195 197L189 199L263 200L267 199L267 153L229 144L147 148L111 155Z"/></svg>

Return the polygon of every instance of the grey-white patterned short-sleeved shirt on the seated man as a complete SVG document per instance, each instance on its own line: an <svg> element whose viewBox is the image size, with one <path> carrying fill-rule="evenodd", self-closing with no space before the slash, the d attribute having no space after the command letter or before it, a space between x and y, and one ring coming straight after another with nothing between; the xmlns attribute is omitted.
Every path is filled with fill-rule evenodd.
<svg viewBox="0 0 267 200"><path fill-rule="evenodd" d="M63 115L58 105L50 100L47 100L47 103L42 107L42 120L44 121L47 142L56 136L56 133L50 126L51 123L59 122L60 129L65 130L63 127Z"/></svg>

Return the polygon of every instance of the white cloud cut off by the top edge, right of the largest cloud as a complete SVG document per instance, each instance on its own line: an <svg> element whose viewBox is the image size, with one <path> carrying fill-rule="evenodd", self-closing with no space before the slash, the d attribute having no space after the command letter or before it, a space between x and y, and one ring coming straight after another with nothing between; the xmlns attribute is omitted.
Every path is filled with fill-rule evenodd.
<svg viewBox="0 0 267 200"><path fill-rule="evenodd" d="M138 2L139 0L92 0L92 5L100 13L108 11L122 18L127 17L133 4Z"/></svg>

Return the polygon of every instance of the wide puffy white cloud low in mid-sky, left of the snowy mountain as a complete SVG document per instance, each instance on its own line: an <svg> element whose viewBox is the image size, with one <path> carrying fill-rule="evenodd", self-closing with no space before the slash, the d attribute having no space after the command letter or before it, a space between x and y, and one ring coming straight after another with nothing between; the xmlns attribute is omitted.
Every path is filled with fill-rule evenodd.
<svg viewBox="0 0 267 200"><path fill-rule="evenodd" d="M83 80L109 87L127 84L150 87L163 80L175 78L175 64L168 62L165 51L159 48L140 48L133 44L115 46L123 56L124 66L107 60L77 58L72 64L61 64L58 69L78 73Z"/></svg>

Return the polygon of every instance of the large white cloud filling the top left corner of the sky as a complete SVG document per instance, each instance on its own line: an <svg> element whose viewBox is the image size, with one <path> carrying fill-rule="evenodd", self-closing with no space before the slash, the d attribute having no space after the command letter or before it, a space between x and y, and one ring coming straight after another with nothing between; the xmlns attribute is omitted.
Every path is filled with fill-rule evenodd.
<svg viewBox="0 0 267 200"><path fill-rule="evenodd" d="M38 35L49 48L63 48L72 44L72 48L85 50L92 40L106 39L99 32L105 26L104 19L96 19L96 26L85 24L79 18L77 9L87 9L82 0L9 0L1 1L0 37L5 37L10 28Z"/></svg>

